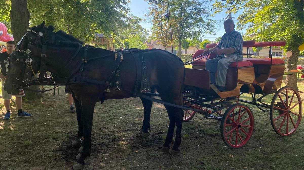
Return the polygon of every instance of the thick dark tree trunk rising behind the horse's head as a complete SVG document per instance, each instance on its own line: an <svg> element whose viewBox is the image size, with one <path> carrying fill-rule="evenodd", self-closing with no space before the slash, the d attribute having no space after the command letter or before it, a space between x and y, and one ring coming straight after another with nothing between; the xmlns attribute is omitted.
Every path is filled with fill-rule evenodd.
<svg viewBox="0 0 304 170"><path fill-rule="evenodd" d="M29 10L26 0L12 0L12 9L9 17L11 18L11 30L15 42L19 42L29 28Z"/></svg>

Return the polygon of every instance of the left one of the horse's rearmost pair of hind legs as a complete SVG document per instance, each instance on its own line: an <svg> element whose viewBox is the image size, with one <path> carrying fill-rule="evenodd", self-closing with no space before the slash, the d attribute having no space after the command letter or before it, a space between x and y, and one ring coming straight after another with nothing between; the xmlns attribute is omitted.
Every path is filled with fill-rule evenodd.
<svg viewBox="0 0 304 170"><path fill-rule="evenodd" d="M175 127L175 116L174 116L172 106L165 105L165 108L167 109L170 122L169 122L167 137L166 137L166 140L165 140L165 143L164 143L163 147L161 148L161 152L168 152L169 151L170 143L173 140L173 132L174 132L174 127Z"/></svg>

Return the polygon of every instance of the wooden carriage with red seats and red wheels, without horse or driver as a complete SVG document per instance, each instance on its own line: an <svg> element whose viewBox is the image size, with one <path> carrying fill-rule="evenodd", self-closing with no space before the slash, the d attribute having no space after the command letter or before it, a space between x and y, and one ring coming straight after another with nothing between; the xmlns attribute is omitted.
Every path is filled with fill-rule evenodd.
<svg viewBox="0 0 304 170"><path fill-rule="evenodd" d="M184 122L191 120L195 113L205 118L221 122L221 137L230 148L243 147L254 130L254 114L244 102L256 105L264 112L270 109L270 121L274 131L281 136L288 136L299 127L302 117L302 103L299 93L292 87L282 87L284 75L297 72L284 72L284 60L272 58L272 46L284 46L285 42L244 41L243 61L233 62L226 76L226 91L219 91L214 82L210 82L210 74L205 70L205 63L216 55L204 54L206 49L198 50L193 55L192 68L186 68L185 89L183 93L185 109ZM212 48L216 44L207 44ZM249 47L269 46L269 58L248 58ZM251 94L252 101L240 98L240 94ZM270 94L275 93L269 103ZM259 96L261 95L261 97ZM264 99L266 101L264 101ZM268 100L268 101L267 101ZM268 103L267 103L268 102ZM195 109L196 111L192 111ZM199 111L197 111L199 110Z"/></svg>

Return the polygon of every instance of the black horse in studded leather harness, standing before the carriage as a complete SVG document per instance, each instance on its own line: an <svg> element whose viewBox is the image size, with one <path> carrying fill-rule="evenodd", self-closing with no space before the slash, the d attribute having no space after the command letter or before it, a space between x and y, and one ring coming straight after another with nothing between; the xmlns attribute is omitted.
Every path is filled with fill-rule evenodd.
<svg viewBox="0 0 304 170"><path fill-rule="evenodd" d="M121 54L118 52L92 46L82 47L83 42L73 36L62 31L53 31L54 28L45 27L44 22L28 30L9 57L9 72L4 89L12 95L19 93L19 87L25 86L30 81L28 78L33 76L32 72L26 71L29 67L34 73L40 69L40 75L45 74L41 68L46 67L47 71L57 75L58 82L64 81L68 84L73 93L78 120L78 135L73 144L80 144L80 139L84 138L83 149L76 157L78 161L74 169L83 168L85 158L90 155L92 119L96 102L135 97L136 94L150 89L151 92L157 90L164 102L182 105L185 68L176 55L156 49L129 51L123 52L120 62ZM146 69L146 72L139 72L136 66L138 59L141 68ZM147 129L150 128L152 102L141 99L144 106L141 131L147 133ZM165 105L165 108L170 123L161 151L169 151L176 124L176 138L170 153L178 154L184 112L180 108L168 105Z"/></svg>

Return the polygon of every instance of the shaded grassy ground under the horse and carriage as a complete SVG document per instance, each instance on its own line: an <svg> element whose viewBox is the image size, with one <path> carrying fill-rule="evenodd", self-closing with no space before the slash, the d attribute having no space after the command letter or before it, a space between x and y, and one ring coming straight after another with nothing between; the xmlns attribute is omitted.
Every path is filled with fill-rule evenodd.
<svg viewBox="0 0 304 170"><path fill-rule="evenodd" d="M298 85L300 91L304 91L304 82L299 81ZM304 95L300 94L303 100ZM69 112L64 87L60 86L59 95L56 92L53 96L50 91L43 96L41 100L23 102L23 110L32 113L32 117L16 118L13 104L12 118L0 119L0 169L70 170L76 162L78 148L73 148L71 142L78 125L75 113ZM248 99L246 95L243 97ZM280 137L271 127L269 112L249 106L254 113L255 127L244 148L229 149L220 137L220 123L197 114L183 123L181 154L171 156L160 152L169 125L163 105L154 103L150 135L140 138L143 106L139 98L97 103L90 163L85 169L303 169L303 122L293 135ZM0 108L3 117L3 100Z"/></svg>

